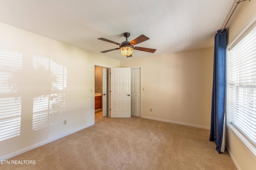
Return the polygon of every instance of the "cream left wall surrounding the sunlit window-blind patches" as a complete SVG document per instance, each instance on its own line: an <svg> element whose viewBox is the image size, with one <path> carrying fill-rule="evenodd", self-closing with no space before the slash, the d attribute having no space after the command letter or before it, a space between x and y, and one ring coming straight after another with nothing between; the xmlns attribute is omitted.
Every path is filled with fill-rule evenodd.
<svg viewBox="0 0 256 170"><path fill-rule="evenodd" d="M94 63L119 67L120 62L114 59L90 53L83 49L57 42L30 32L0 23L0 49L22 53L23 71L26 75L19 78L24 82L24 91L19 94L1 94L1 98L22 97L21 131L20 135L0 141L0 160L4 160L41 144L55 140L79 129L93 124L94 105L93 70ZM51 58L58 65L67 69L67 85L64 90L64 112L55 115L54 123L40 130L32 130L33 98L36 97L35 81L32 69L32 57ZM33 75L38 77L39 75ZM40 77L40 82L49 82L48 77ZM21 85L22 86L22 85ZM47 91L46 87L38 89ZM49 93L51 93L49 91ZM67 120L67 125L63 121Z"/></svg>

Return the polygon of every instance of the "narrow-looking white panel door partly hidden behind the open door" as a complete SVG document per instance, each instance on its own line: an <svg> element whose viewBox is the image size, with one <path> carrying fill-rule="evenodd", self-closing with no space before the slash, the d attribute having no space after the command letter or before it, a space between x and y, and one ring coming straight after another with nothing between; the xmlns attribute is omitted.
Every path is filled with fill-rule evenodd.
<svg viewBox="0 0 256 170"><path fill-rule="evenodd" d="M140 117L140 69L131 69L131 115Z"/></svg>

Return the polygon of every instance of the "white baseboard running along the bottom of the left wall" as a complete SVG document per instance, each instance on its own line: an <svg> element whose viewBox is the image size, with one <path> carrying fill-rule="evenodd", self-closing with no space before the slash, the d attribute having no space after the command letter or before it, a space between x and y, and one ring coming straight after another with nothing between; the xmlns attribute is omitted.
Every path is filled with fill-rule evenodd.
<svg viewBox="0 0 256 170"><path fill-rule="evenodd" d="M45 141L40 142L40 143L38 143L38 144L34 144L34 145L32 145L32 146L29 146L29 147L27 147L27 148L24 148L24 149L22 149L22 150L19 150L19 151L17 151L17 152L12 153L12 154L3 156L3 157L0 158L0 160L6 160L6 159L9 159L9 158L12 158L12 157L14 157L14 156L16 156L16 155L19 155L19 154L22 154L22 153L24 153L24 152L27 152L28 150L37 148L37 147L39 147L39 146L42 146L42 145L44 145L44 144L47 144L47 143L49 143L49 142L52 142L52 141L57 140L57 139L59 139L59 138L62 138L62 137L64 137L64 136L68 136L69 134L72 134L72 133L77 132L77 131L79 131L79 130L82 130L82 129L84 129L84 128L90 127L90 126L92 126L92 125L94 125L94 124L90 124L90 125L87 125L87 126L78 128L78 129L76 129L76 130L73 130L73 131L71 131L71 132L68 132L68 133L62 134L62 135L60 135L60 136L57 136L57 137L55 137L55 138L52 138L52 139L49 139L49 140L45 140Z"/></svg>

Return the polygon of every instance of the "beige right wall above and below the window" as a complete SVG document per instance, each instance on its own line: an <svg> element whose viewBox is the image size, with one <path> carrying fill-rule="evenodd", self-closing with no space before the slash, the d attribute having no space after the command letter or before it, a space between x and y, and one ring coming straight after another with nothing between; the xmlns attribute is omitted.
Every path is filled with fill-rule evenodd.
<svg viewBox="0 0 256 170"><path fill-rule="evenodd" d="M241 2L228 24L228 42L240 34L256 17L256 0ZM242 140L226 128L226 145L236 167L241 170L252 170L256 167L256 156L243 144Z"/></svg>

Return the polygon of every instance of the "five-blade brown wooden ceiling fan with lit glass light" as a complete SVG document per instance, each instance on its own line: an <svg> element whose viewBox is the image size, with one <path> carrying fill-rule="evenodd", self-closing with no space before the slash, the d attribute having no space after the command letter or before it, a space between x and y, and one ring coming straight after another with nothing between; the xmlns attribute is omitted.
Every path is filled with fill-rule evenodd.
<svg viewBox="0 0 256 170"><path fill-rule="evenodd" d="M152 48L144 48L144 47L134 47L134 45L144 42L146 40L149 40L148 37L144 36L143 34L141 36L138 36L137 38L135 38L134 40L132 40L131 42L127 41L127 38L130 37L130 33L129 32L125 32L124 37L126 38L126 41L122 42L122 43L117 43L117 42L113 42L111 40L107 40L105 38L98 38L98 40L102 40L105 42L110 42L110 43L114 43L116 45L119 45L119 48L114 48L114 49L109 49L106 51L100 51L101 53L106 53L109 51L114 51L117 49L120 49L122 55L126 56L126 57L132 57L132 52L133 50L139 50L139 51L146 51L146 52L150 52L150 53L154 53L156 51L156 49L152 49Z"/></svg>

